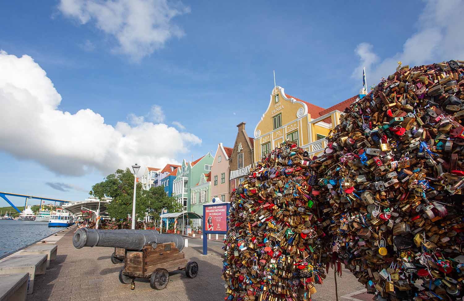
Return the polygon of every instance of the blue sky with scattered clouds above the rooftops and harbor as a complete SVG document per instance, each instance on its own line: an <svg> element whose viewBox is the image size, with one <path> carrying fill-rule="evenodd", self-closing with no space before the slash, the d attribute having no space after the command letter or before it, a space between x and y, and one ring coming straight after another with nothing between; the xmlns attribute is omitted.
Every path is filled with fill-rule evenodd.
<svg viewBox="0 0 464 301"><path fill-rule="evenodd" d="M456 29L463 24L450 25L462 19L462 10L460 1L8 1L0 10L4 63L18 66L26 61L21 56L32 57L38 66L27 61L27 68L45 70L61 95L60 101L56 95L43 100L46 106L72 116L40 126L44 120L33 111L23 116L14 107L18 100L0 93L6 114L14 115L0 121L4 129L11 126L0 132L0 191L81 200L114 166L181 162L210 150L214 155L219 142L232 146L239 122L253 135L273 88L273 69L287 94L329 107L358 93L362 67L370 86L393 73L399 60L415 65L463 59L463 34ZM32 87L30 97L42 93L34 85L45 75L21 82L26 70L17 71L15 84ZM74 115L85 109L84 116ZM64 144L71 141L71 120L78 132L79 122L91 125L86 118L96 114L104 118L100 136L92 137L89 126L73 134L77 144L90 137L83 150L57 150L60 137ZM134 149L126 141L100 153L119 143L108 138L114 133L104 132L107 125L136 137ZM31 137L21 127L33 129ZM173 139L156 136L162 131ZM166 148L172 150L167 154ZM65 191L47 182L63 183Z"/></svg>

